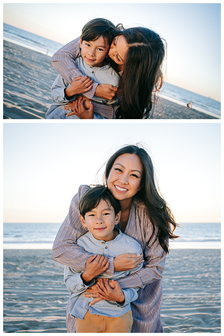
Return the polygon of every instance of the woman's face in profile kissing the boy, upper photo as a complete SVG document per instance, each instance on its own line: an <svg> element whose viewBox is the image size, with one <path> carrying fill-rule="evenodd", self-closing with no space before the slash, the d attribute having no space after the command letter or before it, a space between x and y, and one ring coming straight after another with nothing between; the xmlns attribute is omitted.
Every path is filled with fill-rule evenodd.
<svg viewBox="0 0 224 336"><path fill-rule="evenodd" d="M117 64L124 64L125 54L128 50L124 35L116 36L110 45L108 55Z"/></svg>

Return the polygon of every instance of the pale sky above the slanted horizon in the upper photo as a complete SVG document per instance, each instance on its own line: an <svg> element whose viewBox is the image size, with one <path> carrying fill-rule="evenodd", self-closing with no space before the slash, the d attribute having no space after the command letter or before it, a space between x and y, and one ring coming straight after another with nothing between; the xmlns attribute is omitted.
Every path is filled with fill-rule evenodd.
<svg viewBox="0 0 224 336"><path fill-rule="evenodd" d="M168 43L168 83L220 101L220 3L5 3L4 23L66 44L85 23L144 26Z"/></svg>

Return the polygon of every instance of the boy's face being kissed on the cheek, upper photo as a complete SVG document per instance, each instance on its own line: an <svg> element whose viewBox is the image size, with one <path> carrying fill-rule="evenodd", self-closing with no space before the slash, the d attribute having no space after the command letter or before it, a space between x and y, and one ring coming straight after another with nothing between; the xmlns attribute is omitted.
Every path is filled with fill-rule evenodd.
<svg viewBox="0 0 224 336"><path fill-rule="evenodd" d="M108 55L109 45L104 47L103 37L96 41L82 41L80 37L81 55L84 62L93 67L103 67L104 58Z"/></svg>

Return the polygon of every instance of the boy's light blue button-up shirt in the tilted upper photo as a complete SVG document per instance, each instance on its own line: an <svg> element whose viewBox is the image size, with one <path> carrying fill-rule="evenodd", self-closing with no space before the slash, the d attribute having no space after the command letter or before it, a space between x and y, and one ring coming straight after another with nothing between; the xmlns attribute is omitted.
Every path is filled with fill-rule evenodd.
<svg viewBox="0 0 224 336"><path fill-rule="evenodd" d="M96 68L87 65L82 57L77 57L75 61L82 73L91 77L91 79L95 82L99 84L111 84L118 87L120 77L110 64L101 68ZM68 102L76 98L76 95L70 97L70 99L65 98L65 89L68 86L70 86L70 84L66 82L60 75L58 75L51 87L51 99L53 100L53 104L51 104L46 113L46 119L80 119L76 115L66 117L65 113L68 114L69 112L62 109L62 106L66 106ZM92 100L106 105L118 103L117 98L111 100L102 100L102 98L99 98L95 95L92 97ZM93 119L105 118L94 113Z"/></svg>

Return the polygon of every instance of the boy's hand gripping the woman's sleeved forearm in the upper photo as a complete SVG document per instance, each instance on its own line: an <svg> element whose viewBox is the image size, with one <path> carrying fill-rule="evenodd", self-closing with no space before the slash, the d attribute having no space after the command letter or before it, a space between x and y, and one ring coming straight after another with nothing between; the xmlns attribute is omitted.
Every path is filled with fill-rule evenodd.
<svg viewBox="0 0 224 336"><path fill-rule="evenodd" d="M65 89L65 98L68 99L74 94L84 93L92 88L93 80L88 76L79 76L73 79L72 84Z"/></svg>

